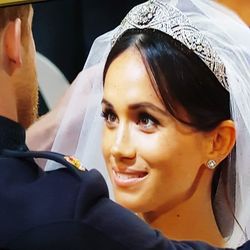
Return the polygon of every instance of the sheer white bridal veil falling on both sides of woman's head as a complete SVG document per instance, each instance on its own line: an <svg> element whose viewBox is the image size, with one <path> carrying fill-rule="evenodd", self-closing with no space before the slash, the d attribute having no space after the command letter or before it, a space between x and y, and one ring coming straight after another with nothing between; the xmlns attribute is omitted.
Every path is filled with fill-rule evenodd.
<svg viewBox="0 0 250 250"><path fill-rule="evenodd" d="M167 2L188 16L226 67L232 119L237 130L235 217L242 227L235 223L228 245L236 247L246 240L250 224L250 29L236 14L212 0L158 1ZM98 169L108 182L111 197L112 188L101 152L101 100L103 68L118 28L93 43L82 72L70 87L71 98L51 149L76 156L88 169ZM59 167L48 161L45 169Z"/></svg>

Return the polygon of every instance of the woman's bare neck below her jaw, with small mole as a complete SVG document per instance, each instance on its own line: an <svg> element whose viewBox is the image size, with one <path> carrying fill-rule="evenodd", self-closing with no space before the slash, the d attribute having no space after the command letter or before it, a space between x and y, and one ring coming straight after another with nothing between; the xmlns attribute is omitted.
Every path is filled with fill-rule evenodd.
<svg viewBox="0 0 250 250"><path fill-rule="evenodd" d="M170 239L201 240L217 247L225 245L213 214L210 192L199 188L192 197L176 207L148 212L141 217Z"/></svg>

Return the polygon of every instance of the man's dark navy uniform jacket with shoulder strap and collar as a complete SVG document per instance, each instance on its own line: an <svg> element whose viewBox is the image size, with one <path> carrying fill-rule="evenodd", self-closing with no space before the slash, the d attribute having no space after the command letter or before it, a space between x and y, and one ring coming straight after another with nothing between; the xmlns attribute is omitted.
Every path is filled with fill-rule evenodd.
<svg viewBox="0 0 250 250"><path fill-rule="evenodd" d="M65 168L43 172L33 160L39 157ZM60 154L28 151L24 129L4 117L0 169L0 249L215 249L164 238L112 202L96 170L80 171Z"/></svg>

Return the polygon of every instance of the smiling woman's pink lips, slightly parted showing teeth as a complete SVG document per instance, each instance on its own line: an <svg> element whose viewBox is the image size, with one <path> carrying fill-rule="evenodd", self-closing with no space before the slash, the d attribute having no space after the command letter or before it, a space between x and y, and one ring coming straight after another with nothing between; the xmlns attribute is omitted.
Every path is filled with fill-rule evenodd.
<svg viewBox="0 0 250 250"><path fill-rule="evenodd" d="M117 186L129 187L135 185L145 178L147 178L148 173L142 171L116 171L113 169L113 179Z"/></svg>

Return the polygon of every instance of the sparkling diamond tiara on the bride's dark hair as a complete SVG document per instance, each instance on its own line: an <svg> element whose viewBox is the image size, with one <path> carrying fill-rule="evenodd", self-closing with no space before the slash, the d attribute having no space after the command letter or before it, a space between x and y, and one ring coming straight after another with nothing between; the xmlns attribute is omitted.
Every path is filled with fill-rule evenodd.
<svg viewBox="0 0 250 250"><path fill-rule="evenodd" d="M135 6L123 19L112 38L112 45L129 29L155 29L178 40L208 66L225 89L229 89L226 68L217 52L189 18L167 1L150 0Z"/></svg>

